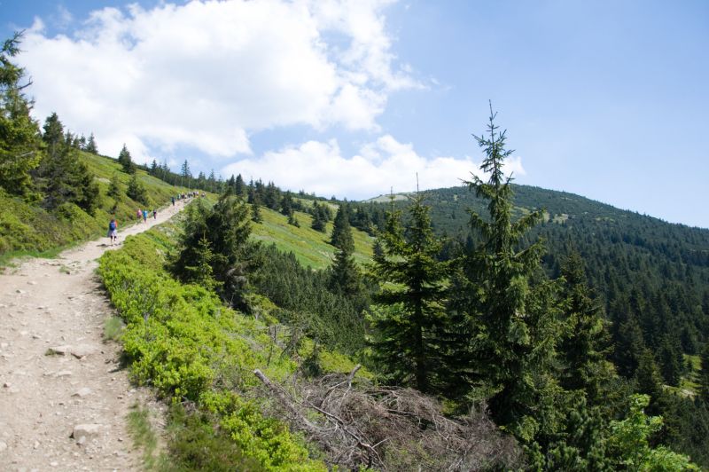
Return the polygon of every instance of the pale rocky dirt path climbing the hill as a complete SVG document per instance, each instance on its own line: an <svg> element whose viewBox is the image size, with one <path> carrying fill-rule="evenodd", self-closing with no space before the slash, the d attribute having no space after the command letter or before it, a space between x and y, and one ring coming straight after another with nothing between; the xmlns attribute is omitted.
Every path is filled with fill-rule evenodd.
<svg viewBox="0 0 709 472"><path fill-rule="evenodd" d="M182 208L119 227L119 241ZM102 339L114 312L95 269L110 249L102 238L0 275L0 470L140 469L126 416L142 393Z"/></svg>

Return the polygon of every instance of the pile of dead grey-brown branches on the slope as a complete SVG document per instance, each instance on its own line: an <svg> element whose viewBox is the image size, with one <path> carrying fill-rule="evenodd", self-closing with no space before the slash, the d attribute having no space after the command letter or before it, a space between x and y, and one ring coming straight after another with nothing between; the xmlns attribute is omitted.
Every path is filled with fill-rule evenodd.
<svg viewBox="0 0 709 472"><path fill-rule="evenodd" d="M319 444L331 465L382 470L518 468L521 451L484 408L450 419L432 397L414 389L378 387L354 374L299 385L299 398L256 370L292 426Z"/></svg>

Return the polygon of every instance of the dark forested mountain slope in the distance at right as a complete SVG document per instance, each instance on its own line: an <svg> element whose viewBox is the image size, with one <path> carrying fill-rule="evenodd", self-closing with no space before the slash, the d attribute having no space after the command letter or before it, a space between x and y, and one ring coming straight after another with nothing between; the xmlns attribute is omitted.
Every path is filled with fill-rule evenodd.
<svg viewBox="0 0 709 472"><path fill-rule="evenodd" d="M541 236L549 275L559 275L560 261L571 249L583 257L588 282L613 322L615 341L632 345L631 352L615 359L620 372L635 372L643 344L673 350L680 361L679 350L698 353L709 338L709 230L669 224L573 193L529 185L512 189L515 216L534 209L545 212L542 224L526 235L522 246ZM425 201L432 206L436 232L471 244L468 210L484 215L483 201L463 186L428 191ZM389 205L368 202L358 207L377 221L376 215ZM402 207L406 201L393 205ZM635 326L642 330L642 340L628 339L635 335ZM670 366L674 362L665 364L670 377L666 382L676 385L679 373Z"/></svg>

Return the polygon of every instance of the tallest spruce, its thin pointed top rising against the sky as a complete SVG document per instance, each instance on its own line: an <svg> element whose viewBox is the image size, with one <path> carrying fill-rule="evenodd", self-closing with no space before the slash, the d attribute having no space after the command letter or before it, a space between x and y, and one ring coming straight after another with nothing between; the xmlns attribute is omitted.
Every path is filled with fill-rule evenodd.
<svg viewBox="0 0 709 472"><path fill-rule="evenodd" d="M451 304L456 334L465 334L467 341L452 339L467 345L449 355L468 365L453 381L467 382L470 396L487 398L497 424L531 442L560 420L549 401L558 389L550 374L558 309L554 286L541 279L541 241L520 248L526 232L541 221L541 211L512 221L511 177L504 176L503 166L513 151L505 149L506 133L498 131L495 115L490 106L489 138L473 135L485 152L480 169L487 182L473 174L467 184L487 201L489 217L471 211L479 242L461 261L464 279L452 285Z"/></svg>

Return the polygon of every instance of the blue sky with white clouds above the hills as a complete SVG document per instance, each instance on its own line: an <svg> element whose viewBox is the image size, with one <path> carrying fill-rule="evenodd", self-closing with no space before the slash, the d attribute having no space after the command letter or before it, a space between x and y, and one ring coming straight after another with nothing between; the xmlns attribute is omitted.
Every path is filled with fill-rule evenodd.
<svg viewBox="0 0 709 472"><path fill-rule="evenodd" d="M39 122L100 153L362 200L518 184L709 228L709 2L0 0Z"/></svg>

